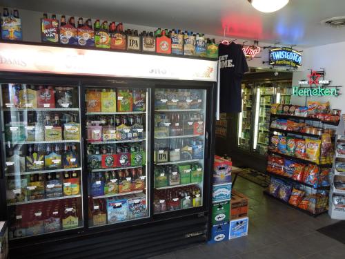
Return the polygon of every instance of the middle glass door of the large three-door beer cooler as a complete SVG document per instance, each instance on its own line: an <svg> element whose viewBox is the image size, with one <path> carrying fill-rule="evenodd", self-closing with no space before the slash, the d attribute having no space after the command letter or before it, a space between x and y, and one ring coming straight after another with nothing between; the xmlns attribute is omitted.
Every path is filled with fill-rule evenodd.
<svg viewBox="0 0 345 259"><path fill-rule="evenodd" d="M149 215L149 93L148 88L86 87L90 227Z"/></svg>

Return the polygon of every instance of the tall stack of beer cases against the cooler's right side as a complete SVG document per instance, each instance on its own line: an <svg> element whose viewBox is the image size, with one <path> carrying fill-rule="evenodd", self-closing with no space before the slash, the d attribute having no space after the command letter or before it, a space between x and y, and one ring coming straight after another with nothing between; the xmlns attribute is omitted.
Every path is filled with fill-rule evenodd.
<svg viewBox="0 0 345 259"><path fill-rule="evenodd" d="M228 240L230 226L232 163L215 156L213 166L212 219L209 243Z"/></svg>

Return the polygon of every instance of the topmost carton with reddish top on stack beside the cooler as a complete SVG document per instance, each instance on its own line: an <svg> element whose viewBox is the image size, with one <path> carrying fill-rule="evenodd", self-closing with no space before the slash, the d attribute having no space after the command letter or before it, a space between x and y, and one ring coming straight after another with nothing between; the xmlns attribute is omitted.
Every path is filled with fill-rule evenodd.
<svg viewBox="0 0 345 259"><path fill-rule="evenodd" d="M213 164L213 184L225 184L231 182L232 163L223 157L215 155Z"/></svg>

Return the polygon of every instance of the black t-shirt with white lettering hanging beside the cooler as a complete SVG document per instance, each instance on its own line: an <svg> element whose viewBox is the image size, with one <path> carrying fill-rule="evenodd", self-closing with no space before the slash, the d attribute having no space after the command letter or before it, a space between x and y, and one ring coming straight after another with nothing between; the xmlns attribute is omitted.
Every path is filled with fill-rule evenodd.
<svg viewBox="0 0 345 259"><path fill-rule="evenodd" d="M219 44L220 66L219 112L240 113L242 111L241 81L248 71L242 45Z"/></svg>

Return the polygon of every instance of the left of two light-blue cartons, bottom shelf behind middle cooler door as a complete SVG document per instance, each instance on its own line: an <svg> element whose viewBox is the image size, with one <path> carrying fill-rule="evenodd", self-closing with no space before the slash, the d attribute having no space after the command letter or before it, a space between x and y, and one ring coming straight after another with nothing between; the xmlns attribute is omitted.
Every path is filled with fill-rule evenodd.
<svg viewBox="0 0 345 259"><path fill-rule="evenodd" d="M125 221L128 218L128 200L107 199L108 224Z"/></svg>

